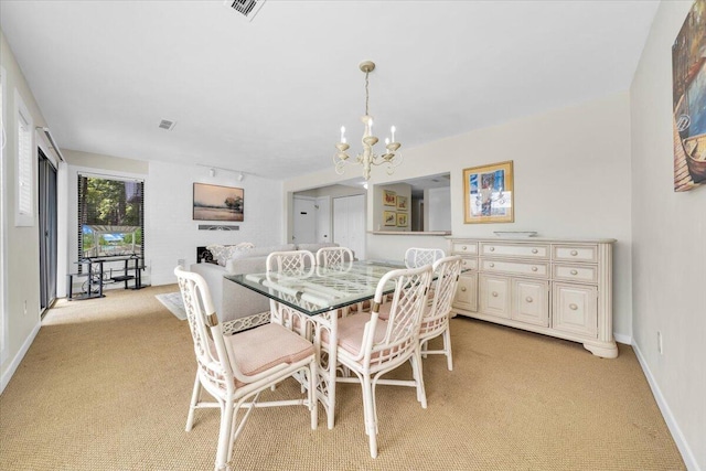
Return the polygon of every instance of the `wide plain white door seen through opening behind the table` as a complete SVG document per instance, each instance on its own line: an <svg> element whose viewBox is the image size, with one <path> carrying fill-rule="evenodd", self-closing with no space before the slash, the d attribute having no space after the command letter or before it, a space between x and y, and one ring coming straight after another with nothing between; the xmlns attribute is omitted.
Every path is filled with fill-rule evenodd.
<svg viewBox="0 0 706 471"><path fill-rule="evenodd" d="M333 242L365 258L365 195L333 199Z"/></svg>

